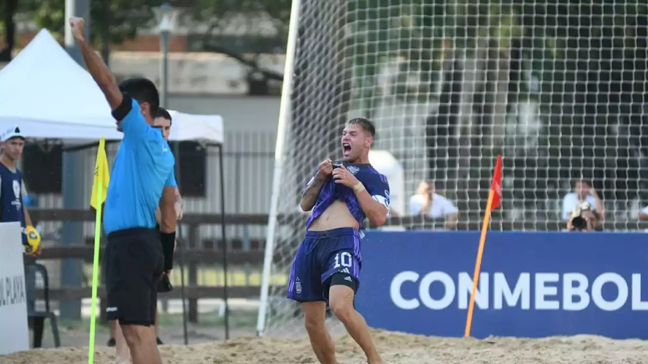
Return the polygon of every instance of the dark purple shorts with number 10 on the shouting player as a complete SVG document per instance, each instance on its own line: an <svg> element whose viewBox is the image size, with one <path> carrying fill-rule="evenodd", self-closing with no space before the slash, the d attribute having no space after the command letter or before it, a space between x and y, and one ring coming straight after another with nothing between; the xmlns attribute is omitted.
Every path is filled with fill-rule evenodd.
<svg viewBox="0 0 648 364"><path fill-rule="evenodd" d="M292 260L287 297L298 302L328 301L330 277L335 273L353 277L357 291L361 267L358 229L307 231Z"/></svg>

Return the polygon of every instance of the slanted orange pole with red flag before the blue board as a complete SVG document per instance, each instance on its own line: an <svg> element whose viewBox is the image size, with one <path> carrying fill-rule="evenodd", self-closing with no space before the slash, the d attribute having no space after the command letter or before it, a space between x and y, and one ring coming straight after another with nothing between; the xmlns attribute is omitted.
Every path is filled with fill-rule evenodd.
<svg viewBox="0 0 648 364"><path fill-rule="evenodd" d="M483 258L484 245L486 244L486 233L488 231L489 222L491 222L491 212L497 209L502 204L502 155L497 156L495 163L495 172L492 176L491 190L488 194L488 201L486 203L486 212L484 213L484 221L481 225L480 245L477 250L477 259L475 261L475 271L472 275L472 290L470 291L470 303L468 306L468 315L466 317L466 328L463 336L470 336L470 328L472 327L472 314L475 308L475 295L477 293L477 284L480 279L481 259Z"/></svg>

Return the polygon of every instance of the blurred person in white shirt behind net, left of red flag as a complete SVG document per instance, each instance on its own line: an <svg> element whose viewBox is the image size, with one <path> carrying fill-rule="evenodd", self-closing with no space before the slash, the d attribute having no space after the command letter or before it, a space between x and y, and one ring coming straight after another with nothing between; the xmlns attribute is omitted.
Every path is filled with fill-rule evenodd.
<svg viewBox="0 0 648 364"><path fill-rule="evenodd" d="M434 184L421 182L417 194L410 198L410 215L426 215L430 218L446 219L445 228L454 229L457 226L459 210L450 201L434 192Z"/></svg>

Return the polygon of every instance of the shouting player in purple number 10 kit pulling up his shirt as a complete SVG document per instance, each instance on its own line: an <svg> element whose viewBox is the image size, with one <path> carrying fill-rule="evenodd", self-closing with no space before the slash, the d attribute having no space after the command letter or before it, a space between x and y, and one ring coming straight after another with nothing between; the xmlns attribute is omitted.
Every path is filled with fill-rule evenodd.
<svg viewBox="0 0 648 364"><path fill-rule="evenodd" d="M353 306L362 266L360 225L365 217L383 225L389 210L387 179L369 164L374 135L369 120L349 120L342 132L344 160L320 163L301 195L301 209L313 212L292 262L288 298L301 302L310 343L322 364L337 363L325 325L327 301L367 362L382 363L364 317Z"/></svg>

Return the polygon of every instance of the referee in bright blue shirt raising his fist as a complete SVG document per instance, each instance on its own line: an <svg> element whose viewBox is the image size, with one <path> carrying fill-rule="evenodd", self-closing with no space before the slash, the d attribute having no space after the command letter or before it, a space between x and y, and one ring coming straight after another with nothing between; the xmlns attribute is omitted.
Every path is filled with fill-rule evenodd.
<svg viewBox="0 0 648 364"><path fill-rule="evenodd" d="M104 206L106 317L119 321L133 364L161 364L154 327L157 284L172 268L177 184L174 156L161 131L150 126L159 95L145 78L118 86L84 40L84 20L71 17L69 23L87 70L106 95L117 129L124 133ZM155 229L158 205L160 232Z"/></svg>

